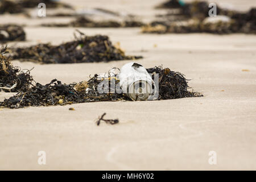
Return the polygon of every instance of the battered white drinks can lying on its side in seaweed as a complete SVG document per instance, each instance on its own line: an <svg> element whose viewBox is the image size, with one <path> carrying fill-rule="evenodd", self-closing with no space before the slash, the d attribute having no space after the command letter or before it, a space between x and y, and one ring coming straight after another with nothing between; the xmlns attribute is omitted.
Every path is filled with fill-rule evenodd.
<svg viewBox="0 0 256 182"><path fill-rule="evenodd" d="M119 80L122 92L133 101L148 100L154 92L154 81L146 69L137 63L123 65Z"/></svg>

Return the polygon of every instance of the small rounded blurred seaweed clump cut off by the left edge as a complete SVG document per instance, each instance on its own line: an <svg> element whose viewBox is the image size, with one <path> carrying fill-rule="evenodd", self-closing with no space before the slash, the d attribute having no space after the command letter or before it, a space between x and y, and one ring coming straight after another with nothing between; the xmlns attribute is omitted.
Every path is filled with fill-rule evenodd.
<svg viewBox="0 0 256 182"><path fill-rule="evenodd" d="M26 40L26 33L21 26L15 24L0 25L0 42Z"/></svg>

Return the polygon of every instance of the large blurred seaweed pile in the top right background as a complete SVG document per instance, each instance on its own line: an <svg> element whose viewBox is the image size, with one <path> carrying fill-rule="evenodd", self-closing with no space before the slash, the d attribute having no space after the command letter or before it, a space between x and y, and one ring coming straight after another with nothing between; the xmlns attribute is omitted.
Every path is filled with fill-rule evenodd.
<svg viewBox="0 0 256 182"><path fill-rule="evenodd" d="M210 8L208 5L209 3L205 1L184 3L183 1L171 0L163 3L158 8L179 10L178 13L177 11L169 11L166 16L161 16L161 20L155 20L143 26L142 32L158 34L191 32L230 34L242 32L256 34L255 8L241 13L217 6L217 16L209 17Z"/></svg>

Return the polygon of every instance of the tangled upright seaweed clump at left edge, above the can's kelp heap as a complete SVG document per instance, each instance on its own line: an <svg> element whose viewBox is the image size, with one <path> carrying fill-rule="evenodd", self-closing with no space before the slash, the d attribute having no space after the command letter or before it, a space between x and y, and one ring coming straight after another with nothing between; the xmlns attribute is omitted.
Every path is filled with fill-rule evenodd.
<svg viewBox="0 0 256 182"><path fill-rule="evenodd" d="M7 47L0 51L0 90L5 92L26 92L32 85L33 78L28 69L14 67L5 57Z"/></svg>

